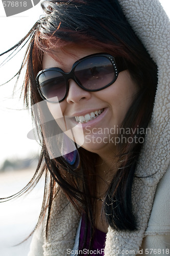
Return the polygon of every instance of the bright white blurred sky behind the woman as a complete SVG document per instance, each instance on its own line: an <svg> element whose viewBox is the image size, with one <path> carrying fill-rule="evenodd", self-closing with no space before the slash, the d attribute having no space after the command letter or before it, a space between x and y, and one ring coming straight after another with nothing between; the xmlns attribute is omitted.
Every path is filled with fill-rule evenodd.
<svg viewBox="0 0 170 256"><path fill-rule="evenodd" d="M160 0L160 2L170 17L170 0ZM6 17L3 4L0 2L0 53L14 46L25 36L42 14L40 4L38 4L28 11ZM17 54L0 69L0 84L16 73L22 58L23 52ZM2 60L3 57L0 57L0 63ZM12 98L13 87L14 80L0 87L0 168L5 159L31 158L39 152L38 143L27 138L27 133L32 129L31 115L23 110L22 98L19 100L19 87Z"/></svg>

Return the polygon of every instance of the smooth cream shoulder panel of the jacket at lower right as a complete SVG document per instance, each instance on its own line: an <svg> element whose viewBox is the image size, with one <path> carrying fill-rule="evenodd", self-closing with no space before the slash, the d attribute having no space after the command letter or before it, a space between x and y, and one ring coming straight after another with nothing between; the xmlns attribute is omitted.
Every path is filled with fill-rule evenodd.
<svg viewBox="0 0 170 256"><path fill-rule="evenodd" d="M153 207L141 249L143 255L170 255L170 166L158 183ZM153 250L151 253L151 249ZM159 250L159 251L158 251ZM164 251L164 252L163 252ZM160 253L161 252L161 253Z"/></svg>

